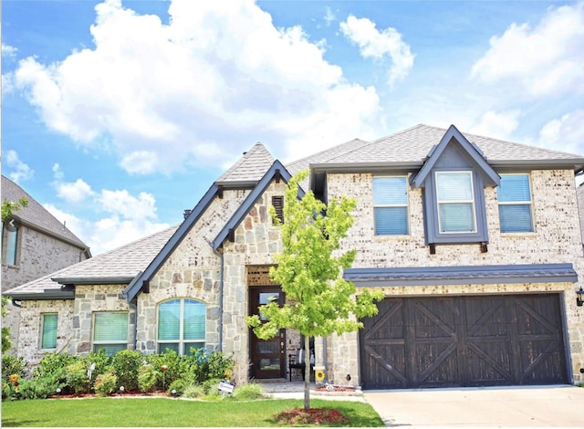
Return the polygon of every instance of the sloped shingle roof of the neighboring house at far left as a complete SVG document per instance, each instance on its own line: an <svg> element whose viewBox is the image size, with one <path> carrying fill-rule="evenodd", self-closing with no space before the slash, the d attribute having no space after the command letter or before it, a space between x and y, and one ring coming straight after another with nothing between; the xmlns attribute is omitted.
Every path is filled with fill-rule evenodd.
<svg viewBox="0 0 584 429"><path fill-rule="evenodd" d="M16 220L31 228L43 231L49 235L54 235L73 246L78 246L81 249L88 248L88 246L83 243L77 235L73 234L67 226L59 222L45 207L38 204L30 194L27 194L24 189L18 186L18 184L3 175L2 201L8 200L17 203L22 197L26 198L28 204L26 207L14 212L13 217Z"/></svg>

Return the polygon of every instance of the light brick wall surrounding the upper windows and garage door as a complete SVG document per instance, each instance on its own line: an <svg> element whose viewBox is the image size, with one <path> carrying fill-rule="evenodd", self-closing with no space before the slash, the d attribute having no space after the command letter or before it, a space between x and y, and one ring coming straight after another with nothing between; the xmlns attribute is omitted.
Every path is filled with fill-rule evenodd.
<svg viewBox="0 0 584 429"><path fill-rule="evenodd" d="M481 253L478 244L436 246L430 255L424 246L422 192L409 190L410 235L376 236L373 230L371 174L329 174L329 198L346 194L357 199L353 213L355 224L344 240L343 248L358 249L353 267L439 267L508 264L571 263L579 274L579 282L549 284L499 284L440 287L381 288L391 295L459 295L464 293L501 294L507 292L556 291L564 295L572 374L582 382L584 367L584 308L576 306L575 291L584 285L584 262L580 241L576 185L571 171L547 170L531 172L533 215L536 232L501 234L496 191L485 188L488 224L488 252ZM328 341L328 377L335 382L351 374L351 383L359 384L358 334L345 334Z"/></svg>

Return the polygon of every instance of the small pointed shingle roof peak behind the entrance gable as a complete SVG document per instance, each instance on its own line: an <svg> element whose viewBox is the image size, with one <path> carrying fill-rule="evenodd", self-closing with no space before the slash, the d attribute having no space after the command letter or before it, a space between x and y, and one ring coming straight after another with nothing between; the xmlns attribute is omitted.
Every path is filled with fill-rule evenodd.
<svg viewBox="0 0 584 429"><path fill-rule="evenodd" d="M217 179L215 183L256 183L274 162L274 157L262 143L255 145L244 156Z"/></svg>

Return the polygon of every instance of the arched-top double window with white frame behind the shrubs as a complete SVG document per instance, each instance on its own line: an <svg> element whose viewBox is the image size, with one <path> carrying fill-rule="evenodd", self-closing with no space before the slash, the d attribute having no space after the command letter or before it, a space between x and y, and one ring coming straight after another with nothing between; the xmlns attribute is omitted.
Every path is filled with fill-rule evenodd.
<svg viewBox="0 0 584 429"><path fill-rule="evenodd" d="M206 306L195 299L171 299L158 306L158 351L185 355L204 347Z"/></svg>

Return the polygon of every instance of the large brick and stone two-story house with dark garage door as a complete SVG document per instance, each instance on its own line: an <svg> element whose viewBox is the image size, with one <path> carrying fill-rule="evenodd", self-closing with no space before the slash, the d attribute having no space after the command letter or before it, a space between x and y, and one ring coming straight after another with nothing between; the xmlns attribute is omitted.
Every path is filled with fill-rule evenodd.
<svg viewBox="0 0 584 429"><path fill-rule="evenodd" d="M314 339L328 382L419 388L582 381L584 264L575 173L584 157L418 125L285 168L257 143L181 225L10 291L18 353L105 349L233 353L235 380L287 376L291 330L257 340L282 251L269 206L291 174L329 201L357 199L343 276L385 294L359 333ZM300 195L303 192L300 192ZM286 220L285 220L286 221ZM50 329L46 328L47 320Z"/></svg>

